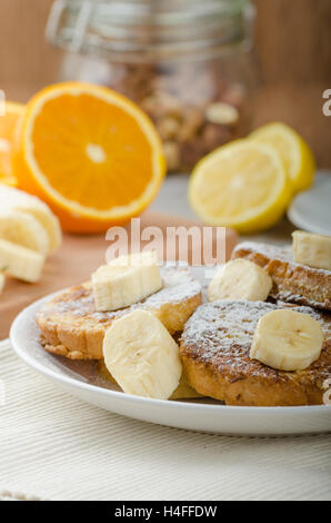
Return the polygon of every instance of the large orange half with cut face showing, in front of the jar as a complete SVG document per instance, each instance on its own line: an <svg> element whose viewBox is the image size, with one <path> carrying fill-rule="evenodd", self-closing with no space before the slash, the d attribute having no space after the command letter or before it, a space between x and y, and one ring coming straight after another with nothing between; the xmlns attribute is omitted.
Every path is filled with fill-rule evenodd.
<svg viewBox="0 0 331 523"><path fill-rule="evenodd" d="M148 116L106 87L66 82L28 103L17 155L19 186L47 201L64 230L104 231L139 215L165 174Z"/></svg>

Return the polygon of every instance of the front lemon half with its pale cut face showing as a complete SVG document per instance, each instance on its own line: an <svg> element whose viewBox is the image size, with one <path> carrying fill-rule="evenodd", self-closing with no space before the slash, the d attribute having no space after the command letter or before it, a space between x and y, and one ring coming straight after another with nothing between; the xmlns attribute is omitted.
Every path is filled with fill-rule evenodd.
<svg viewBox="0 0 331 523"><path fill-rule="evenodd" d="M197 165L188 197L204 224L248 234L264 230L282 217L291 186L272 147L237 140Z"/></svg>

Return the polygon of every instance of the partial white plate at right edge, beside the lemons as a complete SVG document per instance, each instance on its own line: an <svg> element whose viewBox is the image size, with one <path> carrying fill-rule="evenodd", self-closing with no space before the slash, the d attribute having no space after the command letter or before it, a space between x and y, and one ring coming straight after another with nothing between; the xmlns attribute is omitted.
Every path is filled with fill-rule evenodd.
<svg viewBox="0 0 331 523"><path fill-rule="evenodd" d="M288 217L300 229L331 236L331 172L320 170L313 187L300 193L288 210Z"/></svg>

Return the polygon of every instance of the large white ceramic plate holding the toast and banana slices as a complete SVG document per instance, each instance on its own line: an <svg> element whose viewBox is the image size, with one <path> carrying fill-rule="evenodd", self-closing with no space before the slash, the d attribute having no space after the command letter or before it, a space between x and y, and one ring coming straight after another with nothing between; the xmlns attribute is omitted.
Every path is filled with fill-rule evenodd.
<svg viewBox="0 0 331 523"><path fill-rule="evenodd" d="M203 283L204 272L193 269ZM212 399L171 401L131 396L104 381L91 362L71 362L46 353L34 317L51 296L27 307L12 324L17 354L69 394L107 411L146 422L200 432L233 435L290 435L331 432L331 406L231 407Z"/></svg>

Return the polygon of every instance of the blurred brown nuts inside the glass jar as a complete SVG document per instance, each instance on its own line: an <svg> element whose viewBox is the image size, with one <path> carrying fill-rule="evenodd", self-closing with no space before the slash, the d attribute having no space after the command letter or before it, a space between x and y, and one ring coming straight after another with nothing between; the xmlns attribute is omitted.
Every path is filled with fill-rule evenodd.
<svg viewBox="0 0 331 523"><path fill-rule="evenodd" d="M215 62L112 65L109 87L137 101L156 124L169 171L189 171L219 146L244 135L245 89Z"/></svg>

